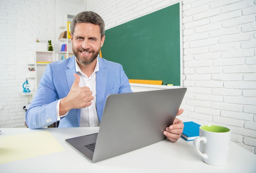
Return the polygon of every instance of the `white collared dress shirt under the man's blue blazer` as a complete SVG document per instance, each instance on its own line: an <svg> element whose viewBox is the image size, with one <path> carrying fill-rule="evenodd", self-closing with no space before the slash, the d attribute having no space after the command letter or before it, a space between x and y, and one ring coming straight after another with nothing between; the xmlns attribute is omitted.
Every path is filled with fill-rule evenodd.
<svg viewBox="0 0 256 173"><path fill-rule="evenodd" d="M81 109L81 116L80 116L80 127L95 127L99 126L99 118L97 115L97 110L96 110L96 73L99 71L99 62L97 61L96 66L94 71L92 72L92 75L89 77L85 75L79 65L76 62L75 59L75 65L76 65L76 72L79 75L80 82L79 82L79 87L89 87L90 90L92 91L92 96L94 96L94 99L92 100L92 104L88 107L82 108ZM57 109L56 109L56 117L57 120L61 120L62 117L67 115L59 116L59 103L60 100L57 103Z"/></svg>

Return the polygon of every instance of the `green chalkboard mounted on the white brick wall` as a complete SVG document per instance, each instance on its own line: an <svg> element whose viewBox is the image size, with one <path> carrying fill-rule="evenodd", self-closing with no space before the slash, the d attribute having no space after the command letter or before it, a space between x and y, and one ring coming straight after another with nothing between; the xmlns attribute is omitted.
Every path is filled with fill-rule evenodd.
<svg viewBox="0 0 256 173"><path fill-rule="evenodd" d="M179 5L106 30L102 57L120 63L129 79L180 86Z"/></svg>

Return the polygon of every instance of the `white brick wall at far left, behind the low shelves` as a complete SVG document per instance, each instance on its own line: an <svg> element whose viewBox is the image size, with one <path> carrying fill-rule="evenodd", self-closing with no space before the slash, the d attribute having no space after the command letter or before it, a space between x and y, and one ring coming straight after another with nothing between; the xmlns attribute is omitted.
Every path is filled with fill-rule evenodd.
<svg viewBox="0 0 256 173"><path fill-rule="evenodd" d="M34 55L35 39L55 39L54 0L2 0L0 5L0 127L24 126L27 104L21 95L27 58ZM53 42L54 44L54 42Z"/></svg>

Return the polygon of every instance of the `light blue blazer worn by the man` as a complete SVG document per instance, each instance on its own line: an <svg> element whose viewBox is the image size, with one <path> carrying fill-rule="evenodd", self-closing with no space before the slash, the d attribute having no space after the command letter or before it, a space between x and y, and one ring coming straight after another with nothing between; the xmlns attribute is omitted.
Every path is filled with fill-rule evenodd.
<svg viewBox="0 0 256 173"><path fill-rule="evenodd" d="M106 98L110 94L132 92L123 67L115 62L99 58L96 75L96 109L101 121ZM26 111L26 123L30 129L49 126L56 120L56 104L64 98L74 83L75 56L47 65L38 90ZM61 118L58 127L79 127L81 109L71 109Z"/></svg>

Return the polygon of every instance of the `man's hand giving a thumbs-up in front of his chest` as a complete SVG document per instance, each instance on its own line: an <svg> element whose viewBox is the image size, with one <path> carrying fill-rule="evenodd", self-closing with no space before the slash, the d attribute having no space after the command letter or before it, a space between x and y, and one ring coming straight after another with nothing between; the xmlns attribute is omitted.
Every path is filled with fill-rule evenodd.
<svg viewBox="0 0 256 173"><path fill-rule="evenodd" d="M64 115L70 109L81 109L92 104L94 97L92 96L92 91L89 87L79 87L79 75L74 74L75 80L72 84L70 92L67 96L61 99L59 115Z"/></svg>

